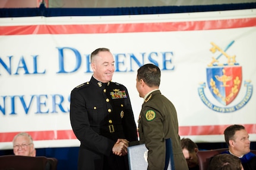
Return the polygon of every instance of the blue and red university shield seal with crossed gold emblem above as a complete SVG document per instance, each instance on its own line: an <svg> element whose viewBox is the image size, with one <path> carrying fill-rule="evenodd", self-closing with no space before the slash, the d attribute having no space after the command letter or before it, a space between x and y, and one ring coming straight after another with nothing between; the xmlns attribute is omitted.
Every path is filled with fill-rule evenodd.
<svg viewBox="0 0 256 170"><path fill-rule="evenodd" d="M231 113L244 107L251 99L253 86L250 80L243 81L242 66L236 60L235 55L229 55L229 49L235 41L231 41L223 50L217 44L211 42L211 53L217 53L217 57L212 57L206 68L207 83L202 82L198 87L198 95L201 101L211 110L220 113ZM222 61L220 62L220 58ZM208 89L206 88L208 86ZM244 98L236 104L232 104L238 96L241 88L246 88ZM214 99L220 104L216 105L209 101L206 90L210 91Z"/></svg>

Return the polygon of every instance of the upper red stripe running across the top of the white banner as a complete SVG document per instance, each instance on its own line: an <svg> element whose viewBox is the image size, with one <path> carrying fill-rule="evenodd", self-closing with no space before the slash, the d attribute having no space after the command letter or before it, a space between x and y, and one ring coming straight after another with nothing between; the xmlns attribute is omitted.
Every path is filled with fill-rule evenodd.
<svg viewBox="0 0 256 170"><path fill-rule="evenodd" d="M229 20L183 21L170 23L83 24L83 25L15 25L1 26L1 36L26 34L97 34L142 33L165 31L216 30L255 27L256 18Z"/></svg>

